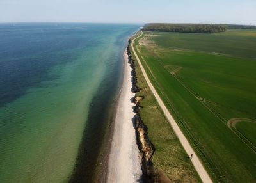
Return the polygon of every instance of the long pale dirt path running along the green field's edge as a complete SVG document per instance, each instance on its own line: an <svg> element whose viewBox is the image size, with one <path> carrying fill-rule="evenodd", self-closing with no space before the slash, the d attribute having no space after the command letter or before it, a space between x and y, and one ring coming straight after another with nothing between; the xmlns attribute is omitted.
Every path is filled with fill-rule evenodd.
<svg viewBox="0 0 256 183"><path fill-rule="evenodd" d="M143 35L143 33L141 33L141 35ZM140 36L138 36L134 40L140 38ZM134 47L133 47L134 40L132 40L132 44L131 44L132 51L134 52L136 60L138 61L139 65L140 65L141 71L142 71L143 76L145 77L145 79L147 81L147 84L148 84L150 90L152 91L152 93L156 97L156 100L157 100L159 106L161 107L161 109L164 112L164 115L166 116L166 118L168 119L170 124L172 125L173 131L175 132L177 138L179 138L179 141L182 144L182 146L184 147L184 149L185 149L186 153L188 154L188 156L190 157L190 155L193 154L193 158L191 159L191 161L192 161L193 165L195 166L195 170L198 172L198 175L202 179L202 182L207 182L207 183L208 182L212 182L211 178L209 177L209 175L208 175L207 171L205 170L203 164L201 163L200 159L198 158L198 156L196 155L195 151L193 150L193 148L189 144L188 139L186 139L186 137L184 136L184 134L180 130L180 128L177 125L177 123L175 122L173 116L170 114L170 112L168 111L168 109L164 105L163 100L159 97L159 95L156 92L154 86L152 85L150 79L148 78L148 76L147 76L147 74L145 72L145 69L143 68L143 65L141 64L140 58L138 57L136 51L134 50Z"/></svg>

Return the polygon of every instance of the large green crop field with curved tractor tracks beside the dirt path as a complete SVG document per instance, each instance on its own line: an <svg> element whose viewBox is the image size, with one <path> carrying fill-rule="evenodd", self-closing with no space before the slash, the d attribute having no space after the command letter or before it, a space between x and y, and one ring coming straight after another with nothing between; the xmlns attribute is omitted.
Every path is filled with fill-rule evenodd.
<svg viewBox="0 0 256 183"><path fill-rule="evenodd" d="M212 179L256 182L256 31L143 32L134 44Z"/></svg>

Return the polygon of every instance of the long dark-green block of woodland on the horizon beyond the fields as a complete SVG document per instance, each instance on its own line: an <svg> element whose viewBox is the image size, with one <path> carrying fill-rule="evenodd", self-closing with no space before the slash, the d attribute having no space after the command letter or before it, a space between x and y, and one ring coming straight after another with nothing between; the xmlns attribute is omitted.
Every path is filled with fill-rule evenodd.
<svg viewBox="0 0 256 183"><path fill-rule="evenodd" d="M220 33L227 30L221 24L145 24L143 31L180 32L180 33Z"/></svg>

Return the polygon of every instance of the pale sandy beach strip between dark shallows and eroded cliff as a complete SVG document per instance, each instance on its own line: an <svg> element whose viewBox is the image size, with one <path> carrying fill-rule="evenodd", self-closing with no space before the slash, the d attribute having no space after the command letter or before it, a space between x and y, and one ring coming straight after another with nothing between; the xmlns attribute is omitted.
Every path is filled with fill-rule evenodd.
<svg viewBox="0 0 256 183"><path fill-rule="evenodd" d="M124 80L115 116L115 127L108 162L107 182L139 182L142 174L140 151L136 144L132 118L131 67L124 53Z"/></svg>

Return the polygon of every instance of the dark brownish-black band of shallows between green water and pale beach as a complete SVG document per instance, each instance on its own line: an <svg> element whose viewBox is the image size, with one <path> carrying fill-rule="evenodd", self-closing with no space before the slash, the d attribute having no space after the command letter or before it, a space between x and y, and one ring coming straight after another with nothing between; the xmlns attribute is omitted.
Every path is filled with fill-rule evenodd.
<svg viewBox="0 0 256 183"><path fill-rule="evenodd" d="M120 69L122 65L120 64ZM122 70L118 77L106 77L90 102L89 114L83 138L79 145L76 165L68 182L104 182L108 169L108 157L113 136L118 96L122 86ZM121 77L120 77L121 76ZM116 77L116 82L113 82ZM106 84L108 85L107 87ZM108 88L108 97L106 89ZM110 89L109 89L110 88ZM104 104L104 105L103 105ZM94 107L99 106L99 107ZM98 115L101 114L101 115ZM84 179L85 178L85 179Z"/></svg>

